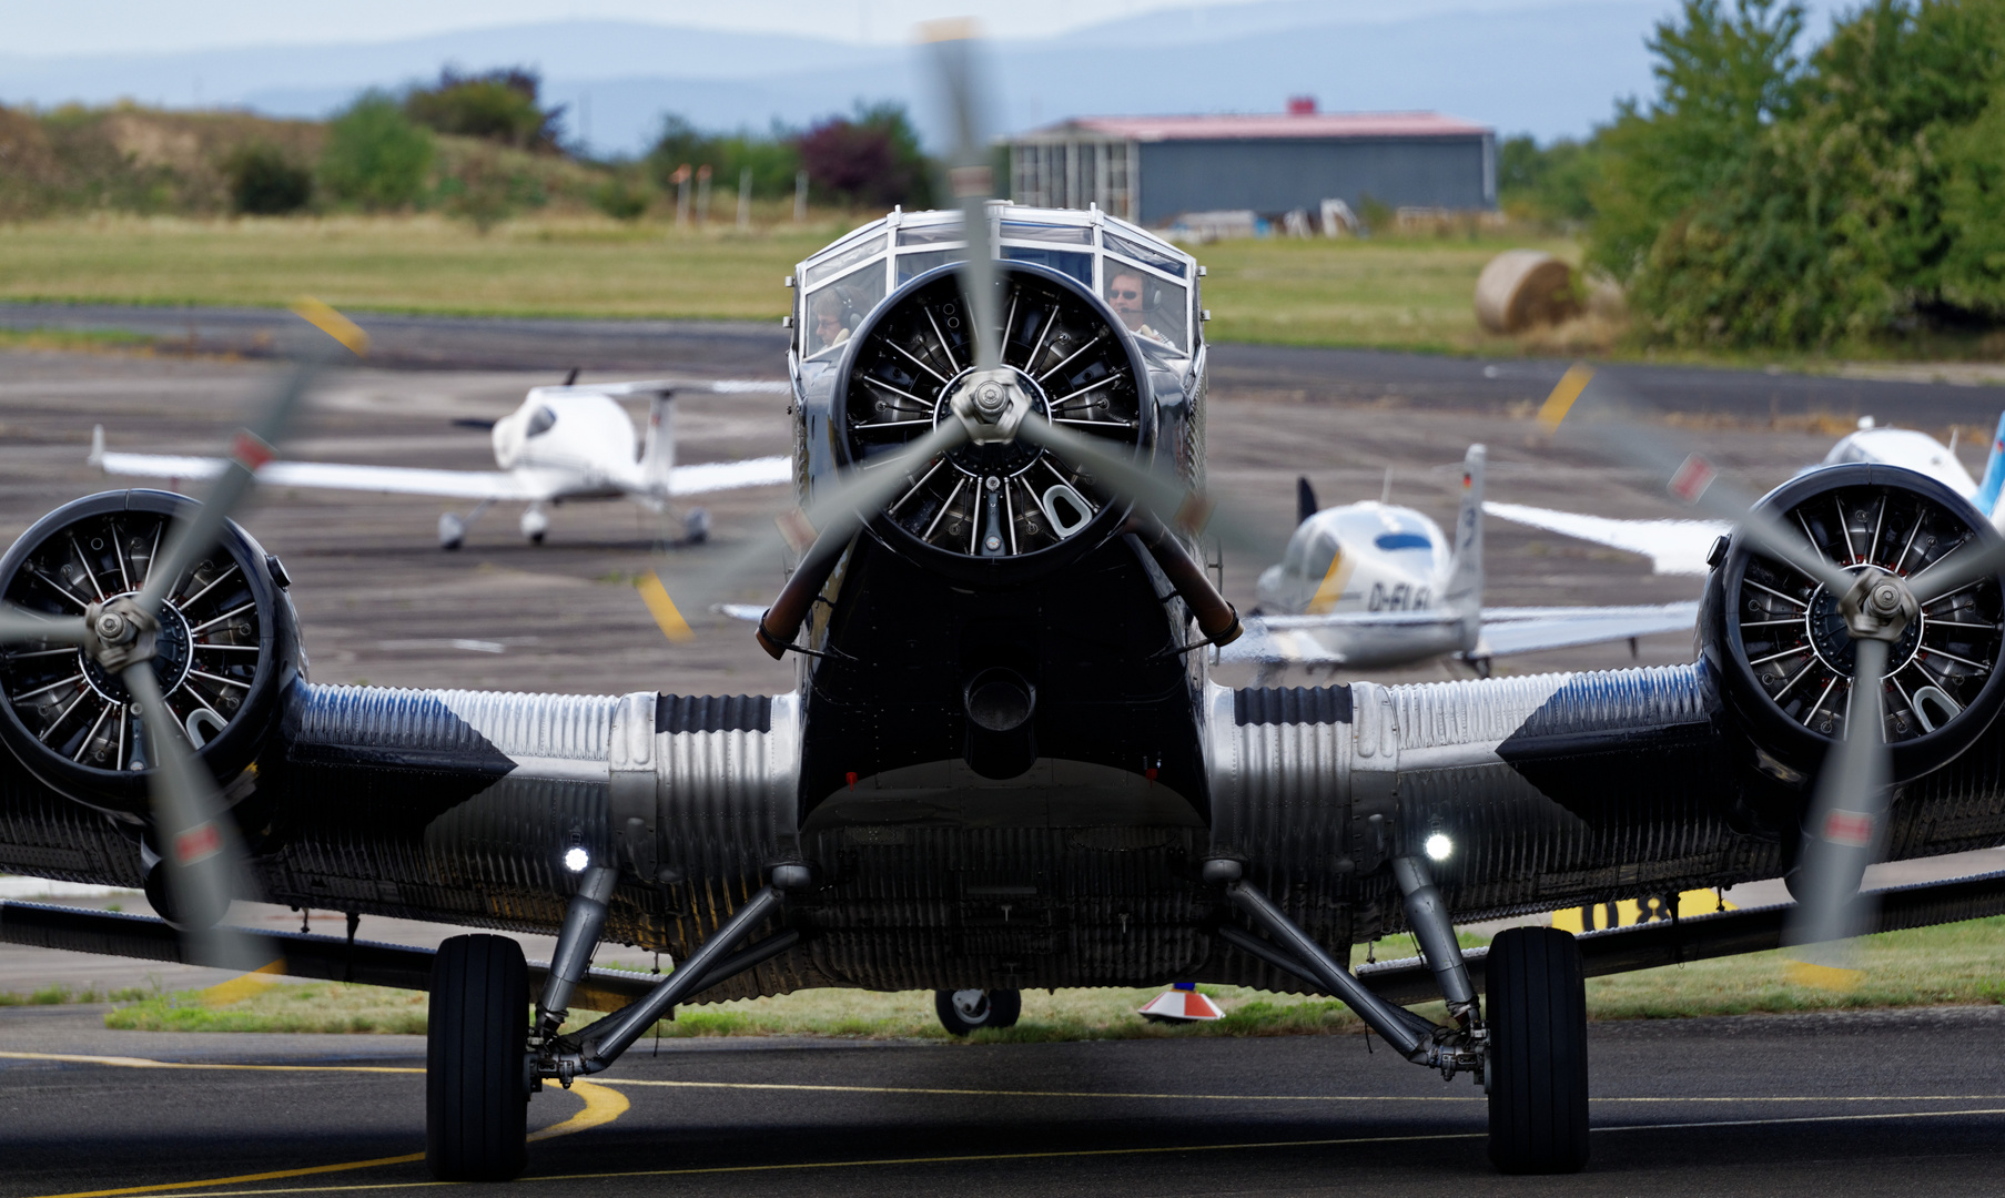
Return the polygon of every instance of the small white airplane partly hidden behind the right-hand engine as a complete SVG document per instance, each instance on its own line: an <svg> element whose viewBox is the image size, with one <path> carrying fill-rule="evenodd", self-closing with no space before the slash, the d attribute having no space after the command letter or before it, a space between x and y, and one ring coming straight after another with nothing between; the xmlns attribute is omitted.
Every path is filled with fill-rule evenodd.
<svg viewBox="0 0 2005 1198"><path fill-rule="evenodd" d="M1943 445L1913 429L1877 427L1873 417L1861 417L1859 431L1839 439L1819 465L1839 463L1879 463L1929 475L1969 499L1977 511L1991 517L1995 529L2005 531L2005 505L1999 503L1999 487L2005 485L2005 415L1999 417L1997 433L1991 437L1983 481L1973 479L1957 461L1955 437ZM1518 525L1640 553L1660 575L1704 575L1712 543L1730 529L1722 521L1618 521L1520 503L1486 503L1484 511Z"/></svg>

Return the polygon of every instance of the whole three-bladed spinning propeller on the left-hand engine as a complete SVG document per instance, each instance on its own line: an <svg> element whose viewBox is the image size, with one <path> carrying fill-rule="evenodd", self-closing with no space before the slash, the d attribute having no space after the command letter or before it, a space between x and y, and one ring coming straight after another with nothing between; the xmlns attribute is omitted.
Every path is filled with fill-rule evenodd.
<svg viewBox="0 0 2005 1198"><path fill-rule="evenodd" d="M367 335L327 305L301 301L293 311L351 353L367 351ZM215 549L223 525L251 493L255 471L273 459L273 443L285 433L329 357L331 351L319 347L301 355L257 425L237 433L229 467L211 487L209 499L192 517L174 525L158 561L148 563L134 593L100 599L82 617L68 619L50 619L14 605L0 607L0 643L76 645L124 683L132 713L146 731L152 831L162 853L172 916L192 946L188 958L209 966L255 970L269 962L247 938L219 926L235 893L243 845L209 767L194 755L154 677L160 615L178 595L188 571Z"/></svg>

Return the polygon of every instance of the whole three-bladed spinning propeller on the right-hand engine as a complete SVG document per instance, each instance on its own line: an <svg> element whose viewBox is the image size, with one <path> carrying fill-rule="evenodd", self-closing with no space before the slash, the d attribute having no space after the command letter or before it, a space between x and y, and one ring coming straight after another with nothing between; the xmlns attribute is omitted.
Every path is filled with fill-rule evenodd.
<svg viewBox="0 0 2005 1198"><path fill-rule="evenodd" d="M1566 373L1540 421L1558 433L1570 413L1578 413L1566 425L1570 431L1664 479L1674 499L1734 521L1734 537L1750 549L1837 597L1853 647L1851 709L1845 737L1827 751L1811 797L1792 887L1796 910L1784 944L1796 946L1792 980L1851 988L1861 976L1853 940L1873 922L1871 893L1859 887L1865 867L1883 851L1893 787L1885 707L1891 651L1927 605L2005 569L2005 541L1979 523L1973 537L1915 573L1905 573L1905 551L1895 571L1857 561L1859 555L1853 555L1853 569L1845 569L1825 557L1809 527L1798 531L1778 513L1754 507L1700 455L1676 449L1664 433L1642 423L1640 405L1584 365Z"/></svg>

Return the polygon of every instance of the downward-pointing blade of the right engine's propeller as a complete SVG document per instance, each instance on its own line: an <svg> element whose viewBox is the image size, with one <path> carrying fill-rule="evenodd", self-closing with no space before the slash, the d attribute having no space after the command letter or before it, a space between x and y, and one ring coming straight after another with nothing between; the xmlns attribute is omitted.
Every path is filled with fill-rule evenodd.
<svg viewBox="0 0 2005 1198"><path fill-rule="evenodd" d="M1859 982L1851 940L1867 928L1869 902L1859 883L1879 845L1889 803L1887 641L1853 641L1853 699L1845 739L1833 745L1817 779L1804 837L1796 910L1784 940L1804 946L1790 980L1831 990Z"/></svg>

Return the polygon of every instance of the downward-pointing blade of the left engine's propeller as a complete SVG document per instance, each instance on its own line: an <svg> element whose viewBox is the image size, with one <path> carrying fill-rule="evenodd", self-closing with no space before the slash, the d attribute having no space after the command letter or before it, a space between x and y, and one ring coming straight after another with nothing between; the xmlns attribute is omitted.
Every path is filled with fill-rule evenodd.
<svg viewBox="0 0 2005 1198"><path fill-rule="evenodd" d="M233 970L271 964L269 954L261 954L251 940L219 926L235 897L233 881L243 845L235 825L223 815L209 771L160 695L152 661L136 661L118 677L146 721L146 745L152 753L148 789L160 865L166 869L168 893L174 895L176 922L196 950L194 960Z"/></svg>

